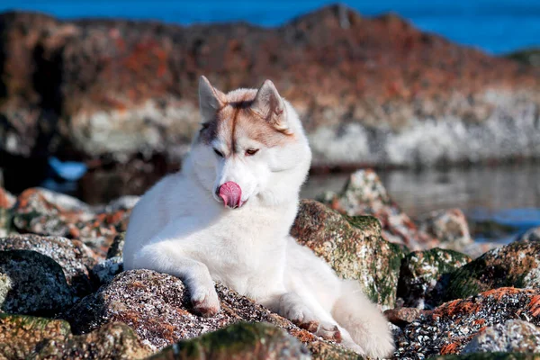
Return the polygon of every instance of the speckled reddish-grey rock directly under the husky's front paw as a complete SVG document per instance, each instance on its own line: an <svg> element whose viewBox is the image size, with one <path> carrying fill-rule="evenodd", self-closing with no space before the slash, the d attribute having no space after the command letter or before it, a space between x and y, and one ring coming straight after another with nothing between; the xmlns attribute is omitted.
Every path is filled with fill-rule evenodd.
<svg viewBox="0 0 540 360"><path fill-rule="evenodd" d="M131 270L113 278L97 293L88 295L63 314L76 333L120 321L135 330L154 349L178 340L196 338L239 321L269 322L302 342L320 340L295 327L246 297L217 284L221 311L204 318L195 313L184 284L175 276L149 270Z"/></svg>

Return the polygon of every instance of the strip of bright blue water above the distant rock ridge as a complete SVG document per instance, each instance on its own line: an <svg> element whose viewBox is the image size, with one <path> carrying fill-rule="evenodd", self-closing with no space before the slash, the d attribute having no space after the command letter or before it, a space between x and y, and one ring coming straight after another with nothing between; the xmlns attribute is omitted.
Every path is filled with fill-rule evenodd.
<svg viewBox="0 0 540 360"><path fill-rule="evenodd" d="M247 21L276 26L331 3L328 0L1 0L0 11L40 11L62 19L120 17L181 24ZM356 0L343 3L368 16L391 11L401 14L424 31L491 54L540 46L540 0Z"/></svg>

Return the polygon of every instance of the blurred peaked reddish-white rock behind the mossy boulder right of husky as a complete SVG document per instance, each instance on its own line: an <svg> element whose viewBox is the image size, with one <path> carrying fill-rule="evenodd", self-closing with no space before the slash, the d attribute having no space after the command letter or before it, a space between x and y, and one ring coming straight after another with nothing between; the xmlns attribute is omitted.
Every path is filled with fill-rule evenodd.
<svg viewBox="0 0 540 360"><path fill-rule="evenodd" d="M437 239L419 230L416 224L392 201L381 179L371 169L350 175L340 193L325 193L320 200L341 213L373 215L383 226L383 238L419 250L437 245Z"/></svg>

